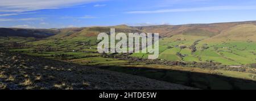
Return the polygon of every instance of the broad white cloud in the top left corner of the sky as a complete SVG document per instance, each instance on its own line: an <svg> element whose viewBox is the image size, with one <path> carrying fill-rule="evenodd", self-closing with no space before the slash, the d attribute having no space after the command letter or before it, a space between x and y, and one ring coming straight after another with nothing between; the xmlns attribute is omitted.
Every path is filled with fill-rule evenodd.
<svg viewBox="0 0 256 101"><path fill-rule="evenodd" d="M58 9L104 0L8 0L0 2L0 12L23 12L41 9Z"/></svg>

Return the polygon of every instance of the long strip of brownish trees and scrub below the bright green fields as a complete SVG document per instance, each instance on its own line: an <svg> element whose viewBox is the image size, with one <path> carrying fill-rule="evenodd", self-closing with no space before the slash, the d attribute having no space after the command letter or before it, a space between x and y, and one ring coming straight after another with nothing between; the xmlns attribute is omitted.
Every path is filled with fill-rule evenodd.
<svg viewBox="0 0 256 101"><path fill-rule="evenodd" d="M169 66L184 66L184 67L193 67L193 68L201 68L201 69L221 69L221 70L229 70L229 71L240 71L240 72L249 72L256 74L256 71L249 70L246 71L246 67L243 66L241 68L236 67L230 67L227 65L222 65L221 63L214 62L212 60L209 60L209 62L182 62L182 61L168 61L168 60L148 60L147 58L139 58L139 57L131 57L131 53L112 53L112 54L106 54L102 53L102 57L109 57L109 58L117 58L119 60L127 60L130 63L134 62L143 62L146 64L159 64L159 65L169 65ZM256 64L251 64L256 68Z"/></svg>

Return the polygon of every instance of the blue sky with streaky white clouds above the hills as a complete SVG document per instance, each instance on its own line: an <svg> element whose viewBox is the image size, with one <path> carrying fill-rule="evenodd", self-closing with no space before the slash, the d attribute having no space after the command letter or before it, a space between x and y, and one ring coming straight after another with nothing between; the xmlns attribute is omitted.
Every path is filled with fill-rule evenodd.
<svg viewBox="0 0 256 101"><path fill-rule="evenodd" d="M150 26L256 20L254 0L0 1L0 27Z"/></svg>

